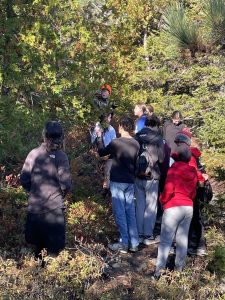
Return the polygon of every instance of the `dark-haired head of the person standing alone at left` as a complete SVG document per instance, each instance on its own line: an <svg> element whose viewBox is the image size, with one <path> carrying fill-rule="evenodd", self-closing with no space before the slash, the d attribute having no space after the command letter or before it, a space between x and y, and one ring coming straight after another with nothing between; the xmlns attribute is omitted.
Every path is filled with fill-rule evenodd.
<svg viewBox="0 0 225 300"><path fill-rule="evenodd" d="M57 150L62 146L64 133L62 126L57 121L49 121L45 124L43 136L49 150Z"/></svg>

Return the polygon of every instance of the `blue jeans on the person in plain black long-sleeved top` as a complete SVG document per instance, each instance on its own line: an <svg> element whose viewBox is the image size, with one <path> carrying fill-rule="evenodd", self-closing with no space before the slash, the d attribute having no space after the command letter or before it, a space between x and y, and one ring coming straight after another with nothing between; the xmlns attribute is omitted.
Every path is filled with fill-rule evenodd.
<svg viewBox="0 0 225 300"><path fill-rule="evenodd" d="M124 245L137 246L139 236L137 231L134 184L110 181L112 208L120 237Z"/></svg>

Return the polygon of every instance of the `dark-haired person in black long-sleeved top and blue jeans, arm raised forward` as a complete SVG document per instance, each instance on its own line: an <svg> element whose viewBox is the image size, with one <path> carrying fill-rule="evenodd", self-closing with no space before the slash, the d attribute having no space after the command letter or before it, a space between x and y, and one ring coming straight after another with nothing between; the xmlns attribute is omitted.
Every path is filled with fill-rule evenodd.
<svg viewBox="0 0 225 300"><path fill-rule="evenodd" d="M113 213L120 232L120 242L109 244L109 248L121 253L127 253L128 249L136 252L139 245L134 204L135 165L139 144L130 135L133 129L132 119L122 118L119 122L121 137L114 139L105 148L101 132L97 133L99 155L111 155L112 157L110 191Z"/></svg>

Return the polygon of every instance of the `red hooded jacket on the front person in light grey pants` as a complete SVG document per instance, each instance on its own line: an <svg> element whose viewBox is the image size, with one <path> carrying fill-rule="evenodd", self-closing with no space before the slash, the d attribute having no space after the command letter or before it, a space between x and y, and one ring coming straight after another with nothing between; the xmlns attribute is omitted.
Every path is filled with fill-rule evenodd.
<svg viewBox="0 0 225 300"><path fill-rule="evenodd" d="M196 195L197 172L188 163L176 161L167 173L160 202L164 209L174 206L193 206Z"/></svg>

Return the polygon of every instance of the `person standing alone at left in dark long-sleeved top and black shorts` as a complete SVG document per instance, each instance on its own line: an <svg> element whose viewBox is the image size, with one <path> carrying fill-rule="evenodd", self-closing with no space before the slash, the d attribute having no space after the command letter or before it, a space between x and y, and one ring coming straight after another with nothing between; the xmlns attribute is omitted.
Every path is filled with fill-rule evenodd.
<svg viewBox="0 0 225 300"><path fill-rule="evenodd" d="M61 150L61 125L46 123L43 136L44 143L28 154L20 176L29 193L25 239L36 246L36 257L44 248L56 256L65 247L63 199L71 189L69 161Z"/></svg>

